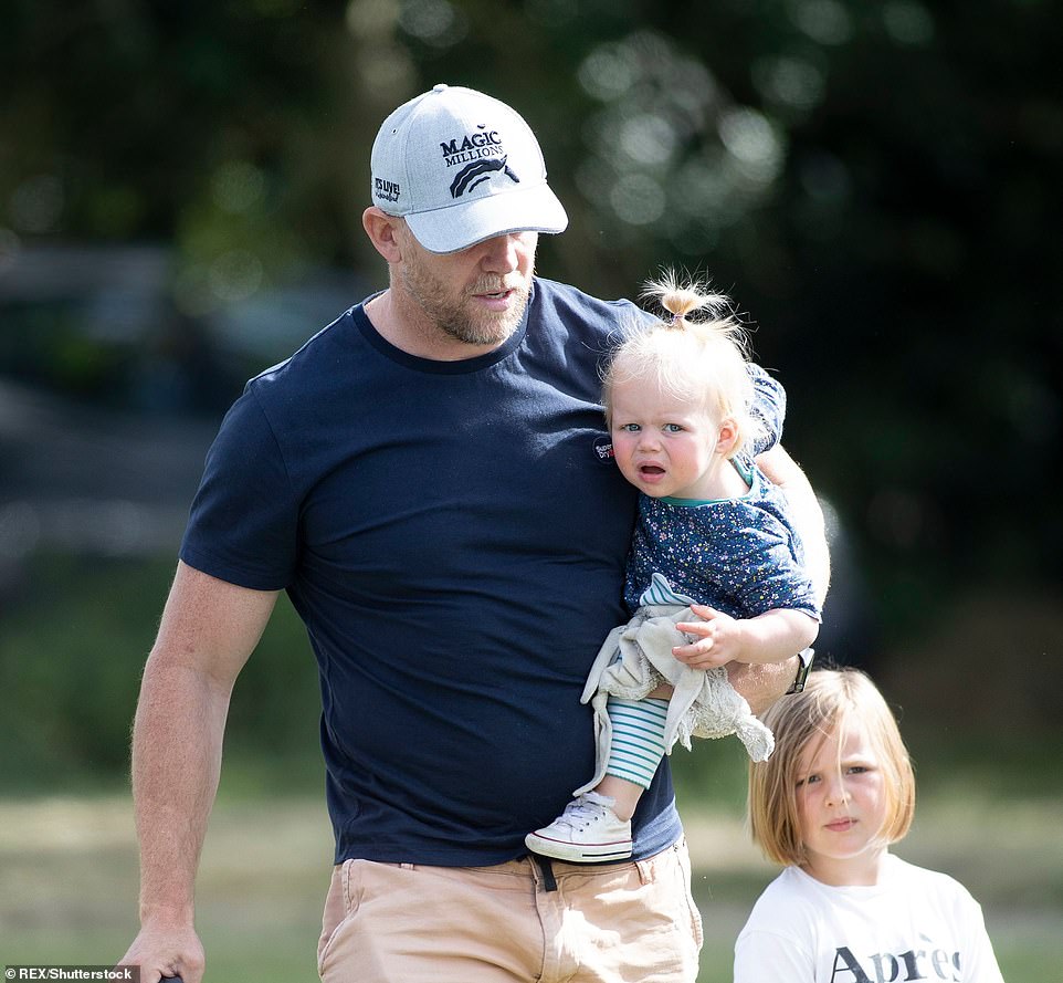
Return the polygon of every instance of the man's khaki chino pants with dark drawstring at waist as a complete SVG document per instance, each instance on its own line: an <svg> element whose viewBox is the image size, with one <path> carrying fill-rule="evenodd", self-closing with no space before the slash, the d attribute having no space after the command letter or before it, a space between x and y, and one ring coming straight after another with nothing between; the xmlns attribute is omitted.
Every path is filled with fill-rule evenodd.
<svg viewBox="0 0 1063 983"><path fill-rule="evenodd" d="M347 860L325 901L324 983L694 983L702 922L685 843L628 864Z"/></svg>

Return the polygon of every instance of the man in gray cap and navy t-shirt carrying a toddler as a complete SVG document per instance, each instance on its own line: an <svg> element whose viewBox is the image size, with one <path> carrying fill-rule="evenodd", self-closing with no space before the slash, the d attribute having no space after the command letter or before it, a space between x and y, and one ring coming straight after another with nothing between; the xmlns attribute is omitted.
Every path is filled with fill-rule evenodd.
<svg viewBox="0 0 1063 983"><path fill-rule="evenodd" d="M592 771L579 696L627 619L634 492L598 370L638 310L533 278L537 234L567 218L508 106L438 85L385 121L371 169L364 226L389 289L249 383L208 457L137 710L141 931L124 961L143 983L202 976L192 886L230 692L286 589L322 677L327 983L691 981L666 766L631 861L551 867L524 847ZM761 462L821 544L800 470L781 448ZM797 668L734 679L764 707Z"/></svg>

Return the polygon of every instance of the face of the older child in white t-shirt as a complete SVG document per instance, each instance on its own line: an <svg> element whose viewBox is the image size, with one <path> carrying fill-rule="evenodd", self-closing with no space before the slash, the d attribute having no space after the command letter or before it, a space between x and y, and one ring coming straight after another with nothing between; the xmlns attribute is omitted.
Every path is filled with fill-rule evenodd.
<svg viewBox="0 0 1063 983"><path fill-rule="evenodd" d="M804 870L824 883L876 882L888 807L880 764L857 720L819 745L813 741L801 756L796 795Z"/></svg>

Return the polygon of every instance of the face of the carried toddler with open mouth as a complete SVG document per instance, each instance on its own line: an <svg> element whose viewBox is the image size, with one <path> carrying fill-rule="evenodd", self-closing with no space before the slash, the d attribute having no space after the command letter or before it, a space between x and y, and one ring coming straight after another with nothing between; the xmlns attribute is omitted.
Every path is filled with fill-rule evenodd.
<svg viewBox="0 0 1063 983"><path fill-rule="evenodd" d="M726 498L715 485L723 457L719 428L699 406L662 393L649 380L625 380L610 395L617 464L639 491L655 499Z"/></svg>

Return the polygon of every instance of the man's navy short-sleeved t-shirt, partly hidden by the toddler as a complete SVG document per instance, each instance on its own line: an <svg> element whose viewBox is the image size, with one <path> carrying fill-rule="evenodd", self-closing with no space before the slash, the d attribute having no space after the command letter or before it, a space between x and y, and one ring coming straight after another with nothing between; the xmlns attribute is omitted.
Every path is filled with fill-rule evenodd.
<svg viewBox="0 0 1063 983"><path fill-rule="evenodd" d="M337 861L513 859L593 774L635 515L599 369L632 316L536 279L505 345L433 362L359 305L227 415L181 558L305 621ZM681 835L666 762L633 825L636 858Z"/></svg>

